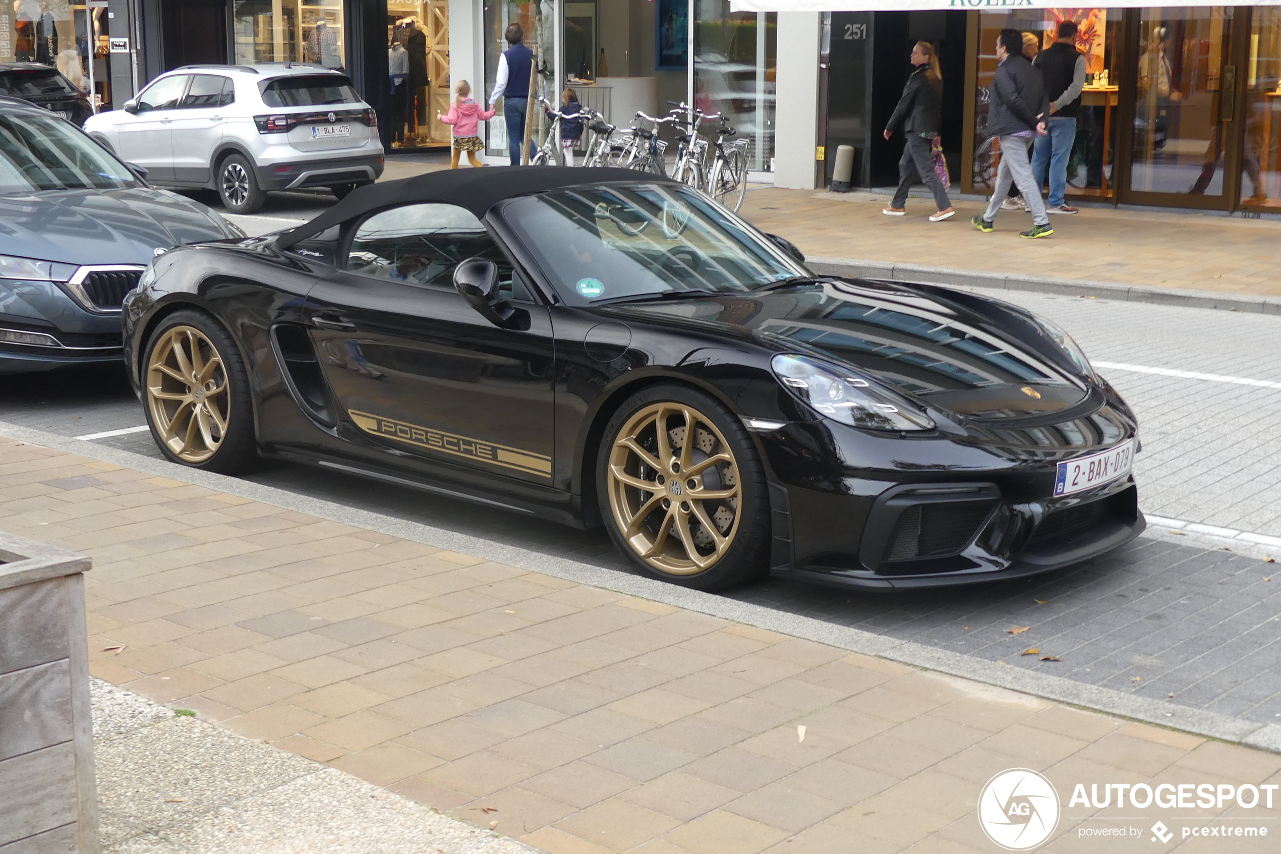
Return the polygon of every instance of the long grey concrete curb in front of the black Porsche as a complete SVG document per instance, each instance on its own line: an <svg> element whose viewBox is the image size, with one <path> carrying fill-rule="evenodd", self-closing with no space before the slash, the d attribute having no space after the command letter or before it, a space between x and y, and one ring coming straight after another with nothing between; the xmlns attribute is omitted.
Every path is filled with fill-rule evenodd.
<svg viewBox="0 0 1281 854"><path fill-rule="evenodd" d="M82 442L42 430L32 430L17 424L0 421L0 434L18 439L19 442L29 442L31 444L65 451L100 462L137 469L138 471L146 471L172 480L293 510L318 519L364 528L414 543L473 554L488 561L516 566L530 572L542 572L576 584L640 597L675 608L697 611L712 617L813 640L865 656L877 656L924 670L998 685L1058 703L1068 703L1107 714L1116 714L1211 739L1281 753L1281 725L1276 723L1264 725L1254 721L1244 721L1177 703L1135 697L1116 689L1100 688L1063 676L1025 671L1009 665L989 662L912 641L897 640L860 629L838 626L813 617L775 611L737 599L726 599L711 593L688 590L640 575L607 570L562 557L542 554L512 545L502 545L420 522L410 522L380 513L343 507L342 504L277 489L275 487L265 487L240 478L199 471L164 460L145 457L131 451Z"/></svg>

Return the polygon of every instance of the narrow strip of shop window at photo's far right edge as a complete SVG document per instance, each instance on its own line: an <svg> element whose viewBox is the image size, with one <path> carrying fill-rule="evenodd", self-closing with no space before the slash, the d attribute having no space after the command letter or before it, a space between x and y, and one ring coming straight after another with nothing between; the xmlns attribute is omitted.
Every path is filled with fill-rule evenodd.
<svg viewBox="0 0 1281 854"><path fill-rule="evenodd" d="M1241 204L1281 207L1281 9L1253 9L1245 69Z"/></svg>

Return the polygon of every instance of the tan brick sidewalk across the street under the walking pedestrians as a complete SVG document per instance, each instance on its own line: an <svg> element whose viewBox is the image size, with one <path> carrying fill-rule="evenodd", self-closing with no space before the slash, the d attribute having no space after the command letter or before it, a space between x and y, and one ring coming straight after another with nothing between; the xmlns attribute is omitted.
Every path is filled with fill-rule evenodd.
<svg viewBox="0 0 1281 854"><path fill-rule="evenodd" d="M980 234L970 218L979 202L931 223L929 200L911 198L907 216L885 216L888 196L761 188L742 214L813 256L925 264L961 270L1281 296L1281 222L1082 207L1054 216L1054 236L1020 239L1031 225L1003 211L997 230Z"/></svg>

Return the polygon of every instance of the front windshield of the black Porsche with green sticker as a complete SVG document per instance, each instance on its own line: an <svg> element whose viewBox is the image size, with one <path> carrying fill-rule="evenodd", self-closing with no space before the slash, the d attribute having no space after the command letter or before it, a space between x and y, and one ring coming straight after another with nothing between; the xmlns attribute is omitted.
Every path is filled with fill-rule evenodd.
<svg viewBox="0 0 1281 854"><path fill-rule="evenodd" d="M743 293L807 275L747 223L671 183L526 196L502 216L570 303Z"/></svg>

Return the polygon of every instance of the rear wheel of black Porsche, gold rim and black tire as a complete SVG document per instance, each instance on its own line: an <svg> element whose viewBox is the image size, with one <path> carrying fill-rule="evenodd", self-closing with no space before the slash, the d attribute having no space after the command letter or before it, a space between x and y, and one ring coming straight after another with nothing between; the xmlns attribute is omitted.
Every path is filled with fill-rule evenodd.
<svg viewBox="0 0 1281 854"><path fill-rule="evenodd" d="M206 367L216 356L219 364L205 371L208 380L199 384L184 382L174 373L173 369L178 374L184 373L182 360L173 353L183 341L187 342L183 359L193 370L192 346L200 347L201 364ZM193 309L175 311L161 320L143 348L141 384L142 408L151 438L169 461L227 475L249 471L260 463L249 371L240 348L218 320ZM199 394L196 385L201 387ZM218 391L218 385L223 385L223 391ZM165 397L161 398L161 394ZM183 394L187 402L175 397ZM201 406L204 419L199 417ZM186 421L182 421L183 412L187 412ZM210 437L216 442L209 442ZM188 451L187 446L193 443L209 453L196 447ZM210 444L215 447L210 448Z"/></svg>

